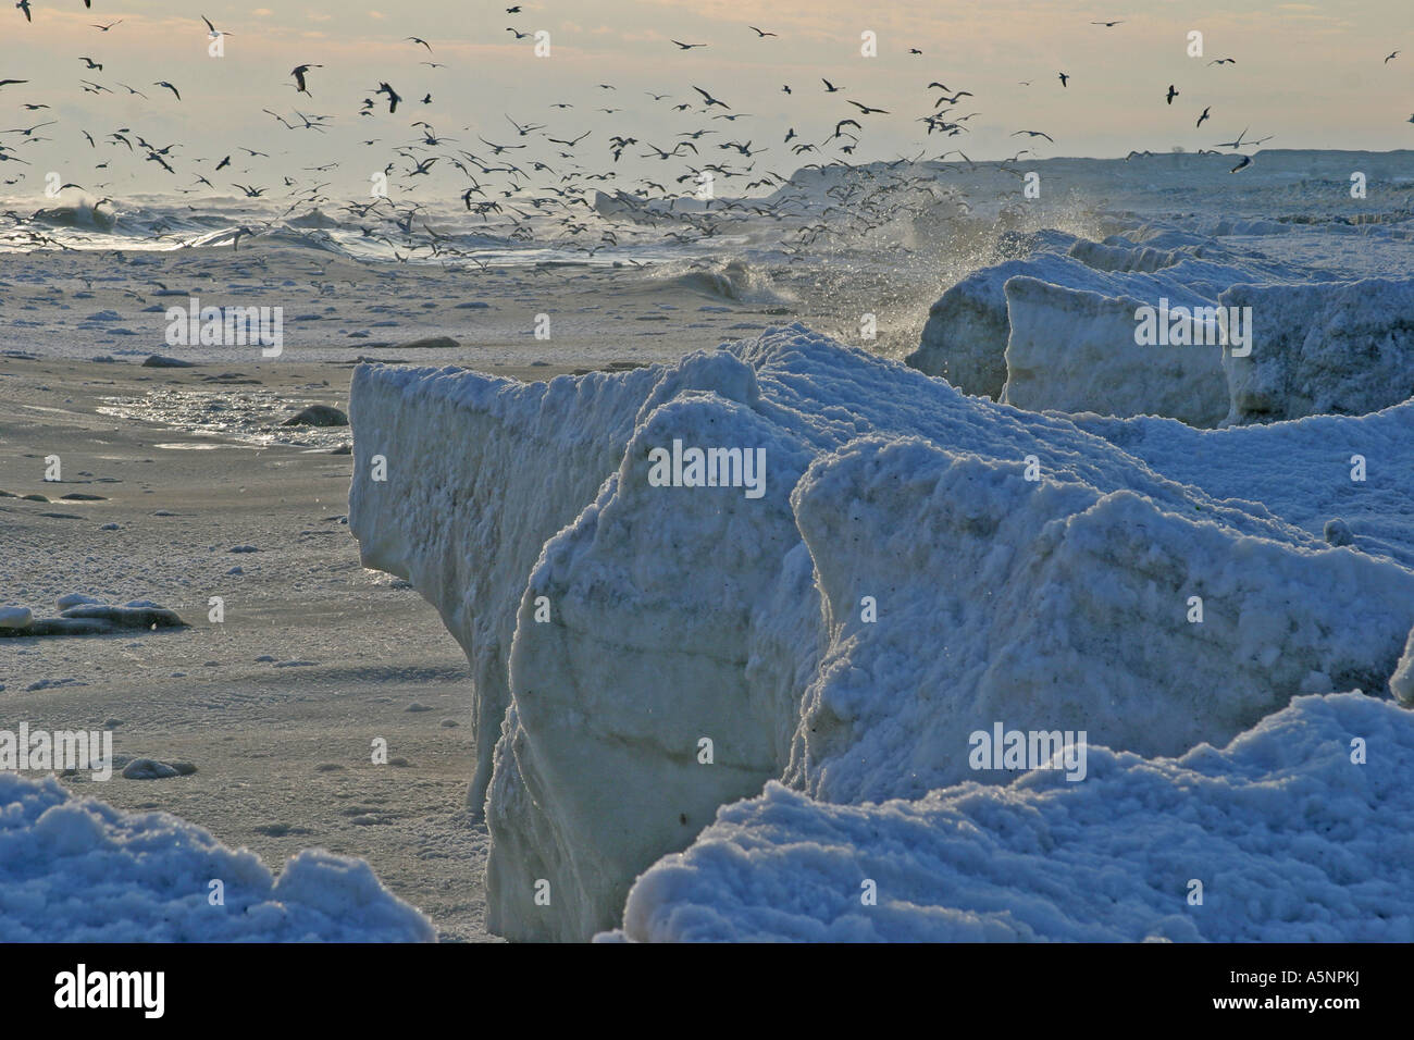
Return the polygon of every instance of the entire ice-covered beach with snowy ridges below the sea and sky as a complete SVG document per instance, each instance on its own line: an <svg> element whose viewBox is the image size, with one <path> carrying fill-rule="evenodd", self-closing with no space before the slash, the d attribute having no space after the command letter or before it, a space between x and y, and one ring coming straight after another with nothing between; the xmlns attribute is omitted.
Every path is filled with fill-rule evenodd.
<svg viewBox="0 0 1414 1040"><path fill-rule="evenodd" d="M590 263L0 259L0 730L117 754L0 775L0 937L1414 940L1404 154L919 164L807 260L622 198ZM140 913L45 932L95 863Z"/></svg>

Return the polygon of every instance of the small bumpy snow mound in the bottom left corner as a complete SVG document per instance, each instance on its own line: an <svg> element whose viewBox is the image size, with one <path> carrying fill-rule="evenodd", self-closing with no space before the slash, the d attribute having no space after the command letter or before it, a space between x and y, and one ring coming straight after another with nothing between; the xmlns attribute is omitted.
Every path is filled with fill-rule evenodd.
<svg viewBox="0 0 1414 1040"><path fill-rule="evenodd" d="M223 906L211 906L211 882ZM361 859L304 850L271 877L164 812L0 773L0 942L427 942L431 923Z"/></svg>

